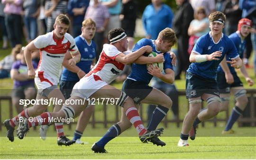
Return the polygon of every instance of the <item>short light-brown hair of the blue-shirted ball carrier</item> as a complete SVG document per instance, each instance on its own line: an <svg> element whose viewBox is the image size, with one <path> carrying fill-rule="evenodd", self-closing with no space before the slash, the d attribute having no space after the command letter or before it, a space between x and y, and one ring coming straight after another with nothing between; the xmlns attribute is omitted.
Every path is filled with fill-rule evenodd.
<svg viewBox="0 0 256 160"><path fill-rule="evenodd" d="M162 39L163 41L167 41L168 43L172 43L173 45L177 42L177 37L175 35L175 32L172 28L165 28L162 30L159 34L157 39Z"/></svg>

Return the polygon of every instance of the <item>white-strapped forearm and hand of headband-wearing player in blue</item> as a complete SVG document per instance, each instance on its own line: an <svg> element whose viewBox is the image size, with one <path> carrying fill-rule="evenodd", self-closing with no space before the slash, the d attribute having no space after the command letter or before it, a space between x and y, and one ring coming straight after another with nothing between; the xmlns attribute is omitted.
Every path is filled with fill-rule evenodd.
<svg viewBox="0 0 256 160"><path fill-rule="evenodd" d="M200 62L205 62L205 61L219 60L218 57L220 57L220 56L221 56L221 52L219 52L219 51L216 51L211 54L197 54L197 53L191 52L189 61L200 63Z"/></svg>

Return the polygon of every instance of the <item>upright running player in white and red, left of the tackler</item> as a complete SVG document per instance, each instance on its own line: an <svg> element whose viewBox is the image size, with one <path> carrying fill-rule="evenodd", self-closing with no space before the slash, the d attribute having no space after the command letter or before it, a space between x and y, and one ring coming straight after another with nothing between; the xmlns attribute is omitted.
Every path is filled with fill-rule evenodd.
<svg viewBox="0 0 256 160"><path fill-rule="evenodd" d="M69 18L66 15L59 15L55 20L54 30L46 35L38 36L35 40L27 44L24 50L28 76L35 78L37 85L37 99L62 99L63 103L65 101L62 92L57 88L65 53L69 51L72 55L72 58L69 59L69 65L71 66L79 62L81 57L73 37L66 33L69 25ZM31 62L31 52L38 49L40 50L40 61L37 71L35 71ZM54 104L54 112L59 111L62 104ZM18 118L20 116L27 119L29 117L38 116L46 110L47 106L48 104L45 103L35 104L33 107L28 107L23 110L18 116L5 120L4 125L7 128L7 137L9 140L11 142L14 141L13 131L18 124ZM55 127L58 134L58 145L73 144L73 141L64 136L63 123L55 123Z"/></svg>

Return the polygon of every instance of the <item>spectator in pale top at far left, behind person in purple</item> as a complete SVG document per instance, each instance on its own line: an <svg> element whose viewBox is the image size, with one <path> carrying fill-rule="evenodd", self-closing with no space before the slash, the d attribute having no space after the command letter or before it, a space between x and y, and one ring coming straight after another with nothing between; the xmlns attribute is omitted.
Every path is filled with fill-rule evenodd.
<svg viewBox="0 0 256 160"><path fill-rule="evenodd" d="M11 53L0 61L0 79L8 78L10 75L11 65L16 61L16 55L20 52L20 47L14 47Z"/></svg>

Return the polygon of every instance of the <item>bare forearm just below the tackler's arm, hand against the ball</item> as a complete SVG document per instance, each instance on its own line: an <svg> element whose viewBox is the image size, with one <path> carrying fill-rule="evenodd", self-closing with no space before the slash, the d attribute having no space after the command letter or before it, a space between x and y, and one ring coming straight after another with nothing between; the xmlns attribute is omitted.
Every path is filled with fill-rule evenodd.
<svg viewBox="0 0 256 160"><path fill-rule="evenodd" d="M161 63L164 62L164 54L157 54L156 57L146 57L144 55L138 57L138 59L136 61L134 61L134 63L137 64L152 64L152 63Z"/></svg>

